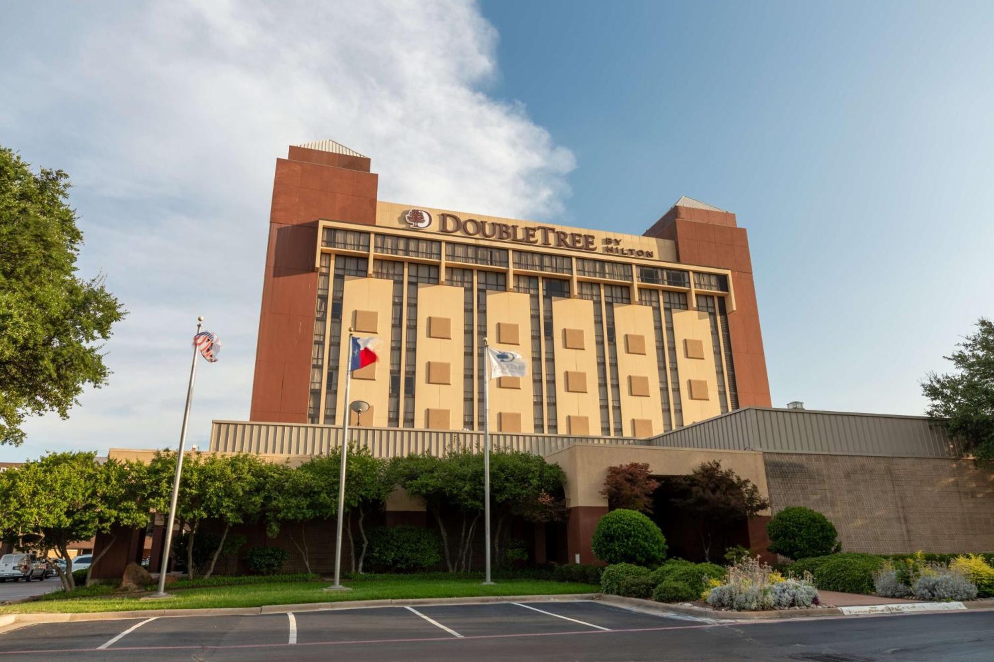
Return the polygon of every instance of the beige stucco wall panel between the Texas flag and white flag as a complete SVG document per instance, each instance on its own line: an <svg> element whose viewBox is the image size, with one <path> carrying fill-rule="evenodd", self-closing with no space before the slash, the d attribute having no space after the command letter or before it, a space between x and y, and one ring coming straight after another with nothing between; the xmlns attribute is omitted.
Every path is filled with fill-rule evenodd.
<svg viewBox="0 0 994 662"><path fill-rule="evenodd" d="M462 288L417 286L417 366L414 371L414 427L427 427L428 409L448 410L449 427L462 428ZM428 317L450 320L450 339L428 337ZM429 361L449 365L448 384L428 384Z"/></svg>

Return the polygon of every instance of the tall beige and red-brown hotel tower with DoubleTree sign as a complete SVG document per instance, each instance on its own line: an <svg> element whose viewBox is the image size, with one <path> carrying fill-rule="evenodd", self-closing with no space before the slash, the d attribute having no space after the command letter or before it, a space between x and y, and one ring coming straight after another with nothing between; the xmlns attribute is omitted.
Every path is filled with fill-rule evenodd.
<svg viewBox="0 0 994 662"><path fill-rule="evenodd" d="M276 162L251 420L340 425L350 328L382 341L353 375L363 426L482 429L484 339L529 366L492 385L494 431L645 438L769 407L735 214L556 227L383 202L370 166L330 140Z"/></svg>

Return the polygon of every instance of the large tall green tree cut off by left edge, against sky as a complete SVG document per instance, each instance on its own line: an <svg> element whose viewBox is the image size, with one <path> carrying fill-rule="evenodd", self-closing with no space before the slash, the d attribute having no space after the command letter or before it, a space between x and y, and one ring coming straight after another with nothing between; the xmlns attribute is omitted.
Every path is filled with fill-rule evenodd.
<svg viewBox="0 0 994 662"><path fill-rule="evenodd" d="M20 445L28 415L63 418L109 371L101 343L124 310L103 276L84 280L69 176L31 171L0 146L0 443Z"/></svg>

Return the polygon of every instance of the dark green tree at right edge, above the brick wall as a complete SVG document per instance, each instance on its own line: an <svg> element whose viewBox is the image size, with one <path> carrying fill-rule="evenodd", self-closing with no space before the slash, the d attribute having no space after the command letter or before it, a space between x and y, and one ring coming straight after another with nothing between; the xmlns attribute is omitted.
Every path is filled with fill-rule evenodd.
<svg viewBox="0 0 994 662"><path fill-rule="evenodd" d="M921 391L931 401L926 414L939 419L949 435L977 462L994 459L994 324L981 317L951 356L954 372L929 373Z"/></svg>

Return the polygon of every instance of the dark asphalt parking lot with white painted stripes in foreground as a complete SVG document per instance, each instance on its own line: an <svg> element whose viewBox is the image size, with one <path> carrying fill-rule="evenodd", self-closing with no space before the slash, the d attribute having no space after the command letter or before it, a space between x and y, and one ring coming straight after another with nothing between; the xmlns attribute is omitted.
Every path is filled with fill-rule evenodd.
<svg viewBox="0 0 994 662"><path fill-rule="evenodd" d="M994 611L732 622L597 601L162 616L0 634L0 660L989 661L992 651Z"/></svg>

